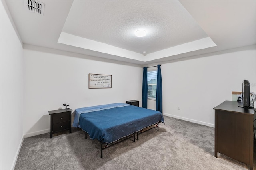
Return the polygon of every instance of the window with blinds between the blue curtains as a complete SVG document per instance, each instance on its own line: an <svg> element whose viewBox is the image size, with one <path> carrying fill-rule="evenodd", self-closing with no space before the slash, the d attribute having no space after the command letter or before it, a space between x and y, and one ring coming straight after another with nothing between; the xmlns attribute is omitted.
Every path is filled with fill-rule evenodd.
<svg viewBox="0 0 256 170"><path fill-rule="evenodd" d="M156 99L157 70L148 71L148 99Z"/></svg>

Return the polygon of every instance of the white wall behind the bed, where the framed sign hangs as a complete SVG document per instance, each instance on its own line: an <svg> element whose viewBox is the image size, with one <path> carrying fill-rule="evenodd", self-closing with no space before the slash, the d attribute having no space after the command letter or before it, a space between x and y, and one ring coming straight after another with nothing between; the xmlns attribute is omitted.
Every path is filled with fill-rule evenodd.
<svg viewBox="0 0 256 170"><path fill-rule="evenodd" d="M70 104L74 111L80 107L126 103L132 99L141 101L141 66L95 59L24 45L25 137L49 132L48 111L65 108L63 103ZM88 89L89 73L112 75L112 88Z"/></svg>

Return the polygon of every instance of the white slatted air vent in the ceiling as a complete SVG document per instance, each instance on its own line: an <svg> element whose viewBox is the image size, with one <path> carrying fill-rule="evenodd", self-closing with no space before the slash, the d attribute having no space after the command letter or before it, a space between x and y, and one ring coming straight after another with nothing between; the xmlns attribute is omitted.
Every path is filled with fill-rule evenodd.
<svg viewBox="0 0 256 170"><path fill-rule="evenodd" d="M24 6L27 10L44 15L44 3L35 0L24 0Z"/></svg>

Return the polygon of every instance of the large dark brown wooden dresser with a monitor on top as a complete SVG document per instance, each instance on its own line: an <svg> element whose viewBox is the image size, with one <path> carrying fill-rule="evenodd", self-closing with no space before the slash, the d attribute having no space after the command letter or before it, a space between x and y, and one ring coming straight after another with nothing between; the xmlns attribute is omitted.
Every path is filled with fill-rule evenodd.
<svg viewBox="0 0 256 170"><path fill-rule="evenodd" d="M224 101L215 110L215 153L249 165L253 169L254 110L238 107L237 101Z"/></svg>

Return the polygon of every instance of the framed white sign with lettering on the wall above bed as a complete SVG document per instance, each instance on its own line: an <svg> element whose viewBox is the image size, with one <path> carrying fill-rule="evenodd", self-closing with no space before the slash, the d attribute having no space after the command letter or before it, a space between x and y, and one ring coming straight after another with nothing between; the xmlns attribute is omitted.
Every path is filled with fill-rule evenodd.
<svg viewBox="0 0 256 170"><path fill-rule="evenodd" d="M89 89L112 88L112 75L89 74Z"/></svg>

